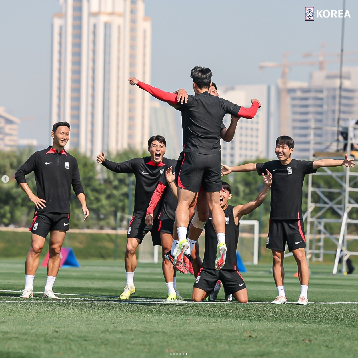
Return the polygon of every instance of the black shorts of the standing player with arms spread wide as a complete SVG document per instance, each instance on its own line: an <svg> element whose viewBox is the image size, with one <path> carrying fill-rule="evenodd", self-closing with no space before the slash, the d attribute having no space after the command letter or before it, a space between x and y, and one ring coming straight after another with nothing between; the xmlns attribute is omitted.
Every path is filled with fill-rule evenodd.
<svg viewBox="0 0 358 358"><path fill-rule="evenodd" d="M266 249L285 251L286 242L289 251L306 247L302 219L270 220Z"/></svg>

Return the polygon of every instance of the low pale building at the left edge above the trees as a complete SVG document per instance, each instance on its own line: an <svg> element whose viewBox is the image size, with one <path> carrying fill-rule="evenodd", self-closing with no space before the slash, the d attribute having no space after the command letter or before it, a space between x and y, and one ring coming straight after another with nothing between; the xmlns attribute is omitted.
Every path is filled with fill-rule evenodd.
<svg viewBox="0 0 358 358"><path fill-rule="evenodd" d="M0 150L15 150L19 141L20 119L0 107Z"/></svg>

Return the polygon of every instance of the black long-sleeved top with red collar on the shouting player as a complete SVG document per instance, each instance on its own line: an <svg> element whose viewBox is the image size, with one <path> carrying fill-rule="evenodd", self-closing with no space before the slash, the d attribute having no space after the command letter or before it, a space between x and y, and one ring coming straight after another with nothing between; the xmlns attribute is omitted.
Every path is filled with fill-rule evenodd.
<svg viewBox="0 0 358 358"><path fill-rule="evenodd" d="M102 165L115 173L127 173L135 175L134 211L133 216L145 217L150 199L161 176L165 176L166 162L163 158L159 164L151 160L150 156L134 158L122 163L116 163L106 159ZM159 208L156 212L159 211Z"/></svg>

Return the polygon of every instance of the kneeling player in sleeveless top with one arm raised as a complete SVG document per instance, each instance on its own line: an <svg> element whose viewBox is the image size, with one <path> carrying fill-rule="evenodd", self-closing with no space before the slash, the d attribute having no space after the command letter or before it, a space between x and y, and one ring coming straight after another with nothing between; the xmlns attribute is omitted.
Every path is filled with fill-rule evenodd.
<svg viewBox="0 0 358 358"><path fill-rule="evenodd" d="M237 269L236 247L239 239L240 219L259 207L265 200L271 187L272 175L267 172L267 176L262 174L265 187L258 194L257 198L247 204L231 206L228 204L232 198L231 186L222 182L220 191L220 205L225 215L225 234L228 252L226 262L220 271L215 268L215 230L210 213L208 221L205 223L205 252L203 266L195 280L192 300L195 302L203 301L212 292L220 280L224 286L226 295L232 295L238 302L247 303L246 285L240 272ZM220 287L220 286L219 286Z"/></svg>

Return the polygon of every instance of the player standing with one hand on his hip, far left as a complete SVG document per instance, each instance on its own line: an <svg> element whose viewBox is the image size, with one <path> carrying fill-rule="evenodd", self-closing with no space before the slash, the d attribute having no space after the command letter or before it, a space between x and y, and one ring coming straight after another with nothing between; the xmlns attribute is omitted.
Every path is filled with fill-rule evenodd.
<svg viewBox="0 0 358 358"><path fill-rule="evenodd" d="M39 255L44 247L45 238L50 232L49 260L47 279L43 292L44 298L57 299L53 292L60 263L61 248L66 231L69 230L71 185L82 206L84 220L89 211L79 177L75 157L64 150L69 140L70 125L67 122L55 123L52 127L52 146L35 152L16 171L15 179L24 190L36 209L30 227L31 247L25 262L25 288L20 298L33 297L33 282L39 266ZM25 176L34 171L37 196L26 183Z"/></svg>

